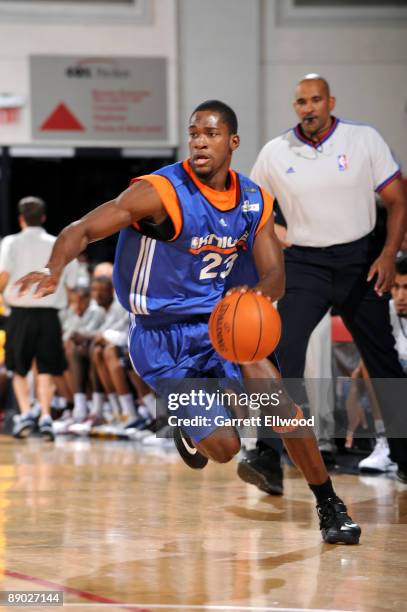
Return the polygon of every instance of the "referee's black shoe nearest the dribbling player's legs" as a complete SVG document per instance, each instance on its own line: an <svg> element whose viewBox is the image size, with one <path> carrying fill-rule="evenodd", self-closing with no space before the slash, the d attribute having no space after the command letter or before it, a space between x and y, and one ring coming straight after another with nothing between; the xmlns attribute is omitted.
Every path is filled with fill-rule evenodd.
<svg viewBox="0 0 407 612"><path fill-rule="evenodd" d="M280 456L274 449L262 453L257 449L249 451L246 459L238 464L237 474L242 480L264 493L283 494L283 470Z"/></svg>

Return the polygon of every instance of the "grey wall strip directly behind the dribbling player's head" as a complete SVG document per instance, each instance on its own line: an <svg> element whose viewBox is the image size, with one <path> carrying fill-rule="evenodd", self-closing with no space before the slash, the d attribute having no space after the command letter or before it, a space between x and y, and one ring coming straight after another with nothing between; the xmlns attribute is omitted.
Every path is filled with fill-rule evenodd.
<svg viewBox="0 0 407 612"><path fill-rule="evenodd" d="M242 138L233 166L248 172L259 147L260 3L179 0L180 156L200 102L216 98L237 113Z"/></svg>

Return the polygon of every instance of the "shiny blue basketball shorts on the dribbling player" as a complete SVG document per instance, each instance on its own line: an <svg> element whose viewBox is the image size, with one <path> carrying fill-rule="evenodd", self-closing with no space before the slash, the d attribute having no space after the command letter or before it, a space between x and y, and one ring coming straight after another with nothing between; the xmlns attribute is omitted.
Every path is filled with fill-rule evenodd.
<svg viewBox="0 0 407 612"><path fill-rule="evenodd" d="M241 381L237 364L223 359L212 347L208 335L208 317L193 316L183 320L163 321L149 316L135 317L129 330L129 353L134 369L158 395L169 397L169 389L185 390L184 379L227 379ZM178 317L179 319L179 317ZM168 319L167 319L168 321ZM220 383L221 384L221 383ZM174 386L175 385L175 386ZM197 381L199 387L199 381ZM173 413L174 414L174 413ZM184 420L201 415L204 424L188 425ZM214 401L210 410L191 403L176 409L182 429L194 442L209 436L219 425L217 416L230 418L226 406Z"/></svg>

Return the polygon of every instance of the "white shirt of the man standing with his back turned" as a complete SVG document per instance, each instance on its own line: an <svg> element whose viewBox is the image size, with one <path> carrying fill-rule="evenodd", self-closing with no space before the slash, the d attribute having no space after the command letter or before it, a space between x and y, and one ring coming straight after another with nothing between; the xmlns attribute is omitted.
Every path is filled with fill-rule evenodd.
<svg viewBox="0 0 407 612"><path fill-rule="evenodd" d="M26 227L18 234L6 236L0 249L0 272L10 275L4 290L4 299L9 306L21 308L65 308L67 295L65 285L74 287L78 263L72 261L65 268L58 288L52 295L43 298L32 297L32 292L19 297L14 283L29 272L44 268L51 255L56 238L43 227Z"/></svg>

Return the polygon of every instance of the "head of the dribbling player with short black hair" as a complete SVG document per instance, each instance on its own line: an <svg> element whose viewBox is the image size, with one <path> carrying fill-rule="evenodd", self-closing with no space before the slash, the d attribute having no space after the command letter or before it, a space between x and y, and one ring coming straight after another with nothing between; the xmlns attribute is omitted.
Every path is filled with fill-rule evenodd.
<svg viewBox="0 0 407 612"><path fill-rule="evenodd" d="M201 179L209 179L225 167L240 143L237 117L220 100L199 104L189 120L190 164Z"/></svg>

